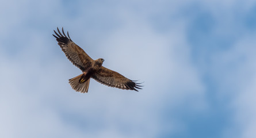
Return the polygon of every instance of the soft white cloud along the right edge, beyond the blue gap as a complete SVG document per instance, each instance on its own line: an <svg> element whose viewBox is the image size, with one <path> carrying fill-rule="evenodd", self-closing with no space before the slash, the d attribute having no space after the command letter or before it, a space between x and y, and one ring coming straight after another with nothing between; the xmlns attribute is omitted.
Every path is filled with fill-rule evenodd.
<svg viewBox="0 0 256 138"><path fill-rule="evenodd" d="M229 51L219 55L219 64L228 71L218 74L222 94L231 97L228 106L233 110L232 126L224 132L226 137L255 137L255 34L244 35ZM217 60L216 59L216 60ZM224 74L226 72L226 74ZM220 75L222 77L220 77ZM222 78L222 80L220 80ZM225 86L227 85L227 86Z"/></svg>

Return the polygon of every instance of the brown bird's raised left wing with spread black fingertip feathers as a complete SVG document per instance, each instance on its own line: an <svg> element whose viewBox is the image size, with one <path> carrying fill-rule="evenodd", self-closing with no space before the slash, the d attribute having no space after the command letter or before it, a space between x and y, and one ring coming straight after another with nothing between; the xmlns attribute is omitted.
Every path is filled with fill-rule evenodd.
<svg viewBox="0 0 256 138"><path fill-rule="evenodd" d="M67 36L64 33L64 30L62 28L62 33L60 32L59 28L57 28L57 33L55 30L55 34L52 34L56 40L58 41L58 44L60 45L60 48L62 48L62 51L65 53L67 58L80 70L84 71L86 68L91 66L91 63L93 62L93 59L91 59L90 56L87 55L85 51L83 51L82 48L80 48L77 44L75 44L71 39L67 32Z"/></svg>

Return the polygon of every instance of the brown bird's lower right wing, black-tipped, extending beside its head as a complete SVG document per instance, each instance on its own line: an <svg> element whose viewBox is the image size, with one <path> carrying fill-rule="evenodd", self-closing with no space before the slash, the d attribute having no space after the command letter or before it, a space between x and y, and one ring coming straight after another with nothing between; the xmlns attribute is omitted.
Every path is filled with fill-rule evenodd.
<svg viewBox="0 0 256 138"><path fill-rule="evenodd" d="M138 85L140 83L135 83L134 81L131 81L131 79L125 78L118 72L109 70L103 66L101 66L101 68L95 72L91 78L106 86L117 87L119 89L135 91L137 91L136 89L141 89L141 86Z"/></svg>

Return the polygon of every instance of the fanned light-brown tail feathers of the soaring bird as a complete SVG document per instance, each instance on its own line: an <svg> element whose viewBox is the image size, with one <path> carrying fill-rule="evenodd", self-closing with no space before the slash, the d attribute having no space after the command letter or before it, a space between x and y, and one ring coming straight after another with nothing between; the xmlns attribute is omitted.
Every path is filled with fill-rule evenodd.
<svg viewBox="0 0 256 138"><path fill-rule="evenodd" d="M83 74L68 80L72 89L81 93L87 93L89 89L90 78L85 81Z"/></svg>

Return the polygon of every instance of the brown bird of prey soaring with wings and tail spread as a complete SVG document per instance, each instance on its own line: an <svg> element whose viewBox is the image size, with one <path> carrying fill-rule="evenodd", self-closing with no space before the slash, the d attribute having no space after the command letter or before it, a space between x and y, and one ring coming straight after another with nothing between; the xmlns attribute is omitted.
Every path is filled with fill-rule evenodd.
<svg viewBox="0 0 256 138"><path fill-rule="evenodd" d="M68 32L66 36L63 28L62 33L59 28L57 28L57 30L58 33L54 30L56 35L52 35L58 41L60 48L62 48L62 51L67 58L83 72L81 75L68 80L72 89L81 93L87 93L90 78L93 78L106 86L117 87L123 90L137 91L136 89L141 89L141 86L139 85L140 83L136 83L131 79L125 78L116 71L103 67L102 63L104 62L104 59L91 59L82 48L70 39Z"/></svg>

